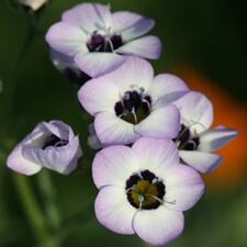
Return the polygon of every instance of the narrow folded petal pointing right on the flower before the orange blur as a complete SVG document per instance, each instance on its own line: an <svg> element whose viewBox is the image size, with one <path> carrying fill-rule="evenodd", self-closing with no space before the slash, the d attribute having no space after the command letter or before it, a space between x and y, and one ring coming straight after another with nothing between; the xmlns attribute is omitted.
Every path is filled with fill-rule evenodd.
<svg viewBox="0 0 247 247"><path fill-rule="evenodd" d="M198 149L202 151L216 150L237 135L238 131L218 125L200 134L200 144Z"/></svg>

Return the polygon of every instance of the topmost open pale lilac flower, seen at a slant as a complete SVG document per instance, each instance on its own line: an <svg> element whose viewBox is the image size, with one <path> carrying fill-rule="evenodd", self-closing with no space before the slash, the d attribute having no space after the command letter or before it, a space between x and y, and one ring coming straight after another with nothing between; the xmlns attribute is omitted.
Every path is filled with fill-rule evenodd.
<svg viewBox="0 0 247 247"><path fill-rule="evenodd" d="M155 25L155 21L128 11L111 13L109 5L81 3L67 10L52 25L46 41L54 49L75 58L90 77L111 72L126 56L158 58L161 43L149 35L134 40Z"/></svg>

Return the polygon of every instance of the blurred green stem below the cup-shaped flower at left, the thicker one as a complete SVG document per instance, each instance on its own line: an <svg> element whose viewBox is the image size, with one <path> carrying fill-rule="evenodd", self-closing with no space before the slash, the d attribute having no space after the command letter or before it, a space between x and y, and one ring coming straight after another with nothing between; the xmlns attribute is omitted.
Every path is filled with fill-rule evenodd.
<svg viewBox="0 0 247 247"><path fill-rule="evenodd" d="M13 180L36 240L45 242L48 239L49 233L47 232L43 212L41 211L38 203L35 201L35 197L31 190L27 178L14 172Z"/></svg>

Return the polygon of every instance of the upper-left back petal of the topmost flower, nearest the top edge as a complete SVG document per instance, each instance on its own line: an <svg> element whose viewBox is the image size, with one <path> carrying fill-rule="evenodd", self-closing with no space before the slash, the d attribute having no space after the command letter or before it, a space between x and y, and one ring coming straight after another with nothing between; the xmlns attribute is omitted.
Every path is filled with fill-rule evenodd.
<svg viewBox="0 0 247 247"><path fill-rule="evenodd" d="M61 20L71 25L78 26L87 34L94 31L105 34L112 26L112 15L108 5L100 3L77 4L63 13Z"/></svg>

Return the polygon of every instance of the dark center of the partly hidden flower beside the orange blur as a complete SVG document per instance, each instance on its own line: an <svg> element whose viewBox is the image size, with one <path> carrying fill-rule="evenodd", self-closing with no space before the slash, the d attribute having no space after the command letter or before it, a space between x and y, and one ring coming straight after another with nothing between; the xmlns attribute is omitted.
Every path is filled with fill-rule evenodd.
<svg viewBox="0 0 247 247"><path fill-rule="evenodd" d="M192 136L190 128L181 124L179 135L173 139L180 150L197 150L200 144L199 136Z"/></svg>

